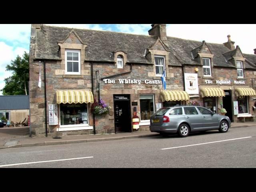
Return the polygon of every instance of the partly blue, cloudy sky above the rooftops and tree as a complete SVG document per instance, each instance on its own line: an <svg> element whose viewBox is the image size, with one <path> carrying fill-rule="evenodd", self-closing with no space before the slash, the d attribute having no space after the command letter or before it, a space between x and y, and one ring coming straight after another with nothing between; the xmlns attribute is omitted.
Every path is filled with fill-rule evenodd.
<svg viewBox="0 0 256 192"><path fill-rule="evenodd" d="M70 28L84 28L148 35L151 24L46 24ZM0 90L4 79L11 76L6 65L24 51L29 52L31 24L0 24ZM166 24L167 36L222 44L227 35L243 53L254 54L256 48L256 24ZM2 92L0 91L0 95Z"/></svg>

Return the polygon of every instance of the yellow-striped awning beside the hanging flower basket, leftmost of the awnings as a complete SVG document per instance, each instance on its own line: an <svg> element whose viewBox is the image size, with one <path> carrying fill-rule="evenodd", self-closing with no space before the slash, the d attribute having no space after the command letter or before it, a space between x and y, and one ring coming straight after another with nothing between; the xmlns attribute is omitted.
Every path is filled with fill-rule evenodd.
<svg viewBox="0 0 256 192"><path fill-rule="evenodd" d="M85 90L72 90L72 91L58 90L56 91L56 102L57 104L93 103L93 94L91 91L85 91Z"/></svg>

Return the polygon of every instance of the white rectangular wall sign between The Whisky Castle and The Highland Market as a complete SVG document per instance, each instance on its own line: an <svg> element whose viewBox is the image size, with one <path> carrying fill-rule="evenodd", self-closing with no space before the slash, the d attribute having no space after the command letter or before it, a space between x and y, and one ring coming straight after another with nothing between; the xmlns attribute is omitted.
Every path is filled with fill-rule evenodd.
<svg viewBox="0 0 256 192"><path fill-rule="evenodd" d="M184 73L185 91L188 94L198 94L198 78L196 73Z"/></svg>

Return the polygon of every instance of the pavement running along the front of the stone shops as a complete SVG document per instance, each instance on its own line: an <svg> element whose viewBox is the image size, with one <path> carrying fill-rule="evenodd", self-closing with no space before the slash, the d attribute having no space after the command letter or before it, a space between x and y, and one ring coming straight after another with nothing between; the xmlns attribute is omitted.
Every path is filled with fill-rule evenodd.
<svg viewBox="0 0 256 192"><path fill-rule="evenodd" d="M256 126L256 122L232 122L230 128L246 128ZM14 147L30 147L30 146L45 146L59 145L82 142L97 142L108 140L122 140L142 137L159 136L158 133L150 131L135 131L131 133L117 134L90 134L90 135L72 135L61 136L61 138L48 137L30 137L29 127L22 128L0 128L0 149Z"/></svg>

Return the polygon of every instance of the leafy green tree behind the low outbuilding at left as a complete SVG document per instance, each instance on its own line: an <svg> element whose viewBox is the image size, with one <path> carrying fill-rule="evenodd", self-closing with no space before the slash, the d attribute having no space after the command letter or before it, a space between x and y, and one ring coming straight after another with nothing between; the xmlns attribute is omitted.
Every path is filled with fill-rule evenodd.
<svg viewBox="0 0 256 192"><path fill-rule="evenodd" d="M12 76L5 78L5 86L1 91L3 95L27 95L29 82L29 54L24 52L23 57L19 55L11 64L6 66L7 71L12 71Z"/></svg>

